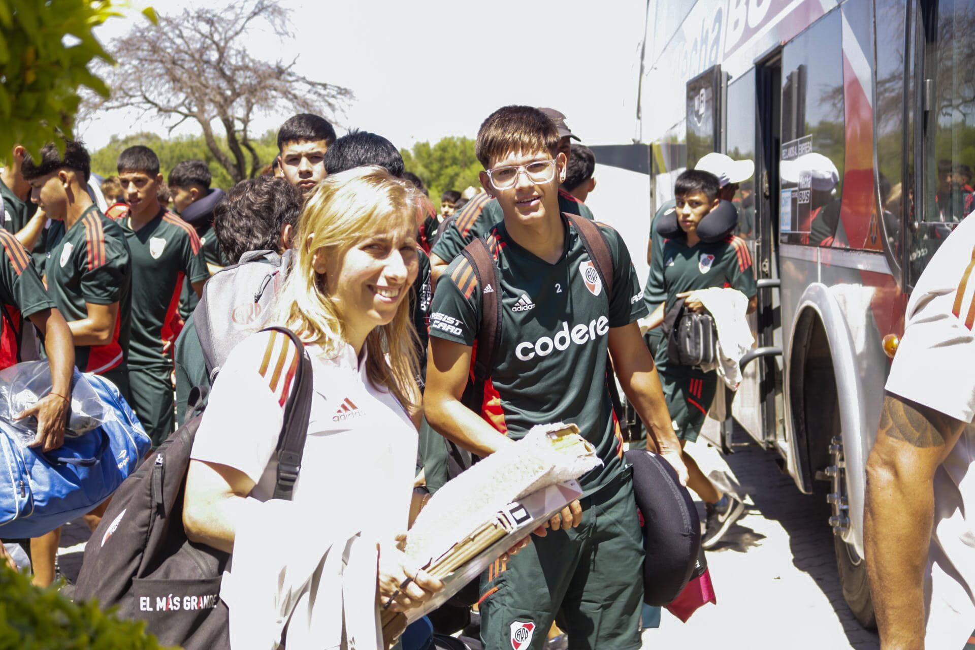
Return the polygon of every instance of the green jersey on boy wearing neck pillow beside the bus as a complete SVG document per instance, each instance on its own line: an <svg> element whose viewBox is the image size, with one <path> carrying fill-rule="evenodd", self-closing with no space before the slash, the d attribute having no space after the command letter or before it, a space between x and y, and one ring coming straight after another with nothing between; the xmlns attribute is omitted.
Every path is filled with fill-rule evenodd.
<svg viewBox="0 0 975 650"><path fill-rule="evenodd" d="M653 253L651 256L647 285L648 290L667 296L664 310L673 307L677 294L684 291L731 287L749 298L759 292L752 269L752 253L745 241L734 235L712 244L699 242L693 247L688 247L683 237L667 240L660 255ZM665 363L666 344L657 349L657 358L664 362L666 371L671 374L702 372L686 365Z"/></svg>

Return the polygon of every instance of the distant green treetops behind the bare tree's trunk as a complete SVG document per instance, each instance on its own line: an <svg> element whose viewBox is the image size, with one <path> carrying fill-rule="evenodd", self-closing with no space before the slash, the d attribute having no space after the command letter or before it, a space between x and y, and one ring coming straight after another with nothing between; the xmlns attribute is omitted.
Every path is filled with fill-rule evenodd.
<svg viewBox="0 0 975 650"><path fill-rule="evenodd" d="M2 1L2 0L0 0ZM216 138L220 146L226 146L224 138ZM207 146L203 135L182 135L164 139L157 134L132 134L125 137L113 135L111 141L105 146L92 152L92 172L100 173L103 176L113 176L118 173L116 162L119 154L128 147L135 144L144 144L159 156L160 172L166 179L169 179L170 171L176 164L184 160L202 160L210 166L210 172L214 174L212 187L219 187L222 190L230 189L234 182L230 174L219 164L214 153ZM269 131L259 139L253 141L254 149L257 151L260 160L266 165L274 160L278 155L277 134Z"/></svg>

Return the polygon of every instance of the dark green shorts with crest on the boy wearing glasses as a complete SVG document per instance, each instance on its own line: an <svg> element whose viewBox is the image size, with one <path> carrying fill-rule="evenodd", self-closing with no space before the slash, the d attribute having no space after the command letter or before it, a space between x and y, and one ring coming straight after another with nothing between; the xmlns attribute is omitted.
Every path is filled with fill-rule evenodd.
<svg viewBox="0 0 975 650"><path fill-rule="evenodd" d="M540 650L553 620L572 650L641 647L643 537L630 471L580 505L578 526L532 536L481 577L485 650Z"/></svg>

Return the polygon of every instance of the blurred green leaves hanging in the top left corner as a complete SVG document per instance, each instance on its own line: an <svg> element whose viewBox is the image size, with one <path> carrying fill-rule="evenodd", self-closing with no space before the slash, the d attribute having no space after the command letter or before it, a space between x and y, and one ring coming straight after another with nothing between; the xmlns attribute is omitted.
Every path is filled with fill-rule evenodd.
<svg viewBox="0 0 975 650"><path fill-rule="evenodd" d="M121 16L117 0L0 0L0 157L15 144L37 154L58 131L70 135L85 86L108 87L88 65L112 62L92 29ZM144 12L154 19L151 10Z"/></svg>

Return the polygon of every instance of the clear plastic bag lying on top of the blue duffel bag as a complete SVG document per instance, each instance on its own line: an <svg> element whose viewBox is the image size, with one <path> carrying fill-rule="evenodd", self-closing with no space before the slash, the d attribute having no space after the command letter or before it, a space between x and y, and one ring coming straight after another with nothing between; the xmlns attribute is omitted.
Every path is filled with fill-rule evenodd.
<svg viewBox="0 0 975 650"><path fill-rule="evenodd" d="M26 446L37 438L37 418L16 419L17 414L51 393L51 366L46 361L24 362L0 370L0 418L19 433ZM74 369L71 376L71 411L65 437L81 436L95 429L105 418L105 407L88 379Z"/></svg>

